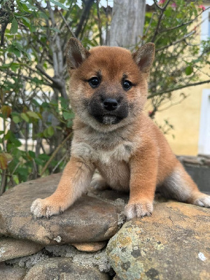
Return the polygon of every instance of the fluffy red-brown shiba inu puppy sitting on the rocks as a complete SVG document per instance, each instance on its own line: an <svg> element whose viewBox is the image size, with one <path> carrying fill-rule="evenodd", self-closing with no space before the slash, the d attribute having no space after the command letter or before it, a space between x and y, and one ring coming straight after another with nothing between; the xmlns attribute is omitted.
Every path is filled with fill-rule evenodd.
<svg viewBox="0 0 210 280"><path fill-rule="evenodd" d="M144 113L153 43L133 55L118 47L90 51L70 38L66 59L69 98L76 115L71 159L55 193L31 205L36 217L59 214L86 188L130 190L128 219L151 216L155 189L181 202L210 207L210 197L176 159L162 132ZM94 170L99 175L92 179Z"/></svg>

